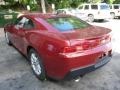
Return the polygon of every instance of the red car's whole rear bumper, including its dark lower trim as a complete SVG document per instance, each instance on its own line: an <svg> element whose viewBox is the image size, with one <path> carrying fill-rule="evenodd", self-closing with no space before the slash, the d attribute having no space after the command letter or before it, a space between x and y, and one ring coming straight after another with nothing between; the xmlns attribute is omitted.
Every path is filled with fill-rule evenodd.
<svg viewBox="0 0 120 90"><path fill-rule="evenodd" d="M84 52L61 53L51 58L49 56L47 75L57 80L75 78L103 66L109 61L107 59L111 58L111 54L111 43L107 43ZM105 62L98 65L102 60Z"/></svg>

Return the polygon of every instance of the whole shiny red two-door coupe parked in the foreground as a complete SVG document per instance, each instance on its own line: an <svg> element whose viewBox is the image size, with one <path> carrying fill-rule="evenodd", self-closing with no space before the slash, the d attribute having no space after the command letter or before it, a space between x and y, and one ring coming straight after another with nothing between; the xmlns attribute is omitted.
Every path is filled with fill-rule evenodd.
<svg viewBox="0 0 120 90"><path fill-rule="evenodd" d="M27 14L4 31L40 80L75 78L105 65L112 55L111 30L69 15Z"/></svg>

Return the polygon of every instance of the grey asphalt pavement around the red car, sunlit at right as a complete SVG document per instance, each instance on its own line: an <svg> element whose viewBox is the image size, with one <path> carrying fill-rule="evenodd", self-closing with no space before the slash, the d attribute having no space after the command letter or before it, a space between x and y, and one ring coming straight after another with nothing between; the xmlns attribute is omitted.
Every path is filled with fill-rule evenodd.
<svg viewBox="0 0 120 90"><path fill-rule="evenodd" d="M0 28L0 90L120 90L120 20L90 24L112 29L112 60L82 78L58 82L38 80L25 57L6 44Z"/></svg>

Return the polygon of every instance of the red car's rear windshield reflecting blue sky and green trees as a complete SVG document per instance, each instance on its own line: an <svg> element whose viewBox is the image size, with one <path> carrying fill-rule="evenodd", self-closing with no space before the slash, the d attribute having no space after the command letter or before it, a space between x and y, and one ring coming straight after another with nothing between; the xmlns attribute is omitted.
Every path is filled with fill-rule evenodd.
<svg viewBox="0 0 120 90"><path fill-rule="evenodd" d="M57 17L49 18L47 22L54 26L61 32L78 30L81 28L88 27L89 24L76 18L76 17Z"/></svg>

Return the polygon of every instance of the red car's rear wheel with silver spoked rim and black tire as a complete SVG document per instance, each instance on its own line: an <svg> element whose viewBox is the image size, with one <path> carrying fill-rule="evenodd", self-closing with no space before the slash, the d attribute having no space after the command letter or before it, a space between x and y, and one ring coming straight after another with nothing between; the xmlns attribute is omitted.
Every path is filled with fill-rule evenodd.
<svg viewBox="0 0 120 90"><path fill-rule="evenodd" d="M33 56L32 55L35 55L35 57L37 58L36 59L36 62L33 62L34 60L32 59ZM38 53L34 50L34 49L30 49L29 51L29 54L28 54L28 58L30 60L30 63L31 63L31 67L32 67L32 70L33 70L33 73L36 75L36 77L41 80L41 81L44 81L46 80L46 75L45 75L45 70L44 70L44 66L42 64L42 59L40 58L40 56L38 55ZM35 59L35 58L34 58ZM35 70L35 67L33 66L34 64L36 63L37 66L36 68L38 68L40 66L40 68L38 69L38 72ZM39 65L39 66L38 66Z"/></svg>

